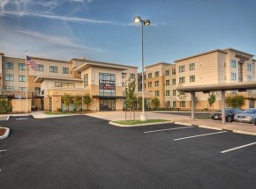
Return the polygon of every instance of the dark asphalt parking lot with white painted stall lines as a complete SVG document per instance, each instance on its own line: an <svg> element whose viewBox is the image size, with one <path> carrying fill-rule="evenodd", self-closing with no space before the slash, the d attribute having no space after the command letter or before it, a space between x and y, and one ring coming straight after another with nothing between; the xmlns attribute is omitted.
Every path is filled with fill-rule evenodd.
<svg viewBox="0 0 256 189"><path fill-rule="evenodd" d="M115 127L85 115L10 119L0 188L255 188L256 137L177 124Z"/></svg>

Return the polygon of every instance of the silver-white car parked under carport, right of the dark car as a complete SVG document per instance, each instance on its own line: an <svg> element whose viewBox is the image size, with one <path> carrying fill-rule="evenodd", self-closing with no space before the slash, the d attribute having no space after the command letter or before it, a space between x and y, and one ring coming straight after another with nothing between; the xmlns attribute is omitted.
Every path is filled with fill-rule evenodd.
<svg viewBox="0 0 256 189"><path fill-rule="evenodd" d="M237 113L234 117L234 121L253 123L256 125L256 108L246 109L243 113Z"/></svg>

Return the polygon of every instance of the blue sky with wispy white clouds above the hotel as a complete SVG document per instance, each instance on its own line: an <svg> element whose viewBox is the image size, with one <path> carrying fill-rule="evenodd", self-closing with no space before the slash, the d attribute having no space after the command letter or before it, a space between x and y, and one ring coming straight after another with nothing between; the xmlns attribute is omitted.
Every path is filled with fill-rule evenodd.
<svg viewBox="0 0 256 189"><path fill-rule="evenodd" d="M0 0L0 52L141 65L216 48L256 55L255 0ZM256 57L254 57L256 58Z"/></svg>

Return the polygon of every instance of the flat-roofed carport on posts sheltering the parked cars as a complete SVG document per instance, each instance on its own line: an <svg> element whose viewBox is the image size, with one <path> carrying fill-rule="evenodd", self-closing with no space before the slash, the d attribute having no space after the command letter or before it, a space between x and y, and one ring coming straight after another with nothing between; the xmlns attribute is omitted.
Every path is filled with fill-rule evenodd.
<svg viewBox="0 0 256 189"><path fill-rule="evenodd" d="M225 124L225 91L246 91L255 90L256 82L237 82L229 84L206 84L206 85L191 85L191 86L178 86L177 91L190 92L191 98L195 97L195 92L210 92L222 91L222 124ZM192 100L192 120L194 120L194 101Z"/></svg>

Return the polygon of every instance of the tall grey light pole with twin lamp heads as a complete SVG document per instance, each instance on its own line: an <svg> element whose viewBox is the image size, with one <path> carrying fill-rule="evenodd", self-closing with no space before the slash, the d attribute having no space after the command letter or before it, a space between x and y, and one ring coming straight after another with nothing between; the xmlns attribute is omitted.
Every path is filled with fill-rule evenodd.
<svg viewBox="0 0 256 189"><path fill-rule="evenodd" d="M147 120L145 113L145 86L144 86L144 45L143 45L143 26L150 25L149 19L141 19L139 16L133 18L135 23L141 23L141 64L142 64L142 113L140 114L140 120Z"/></svg>

